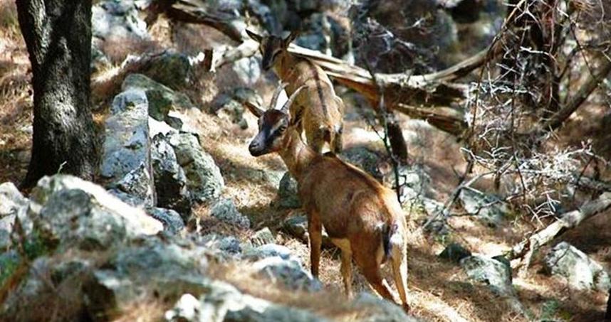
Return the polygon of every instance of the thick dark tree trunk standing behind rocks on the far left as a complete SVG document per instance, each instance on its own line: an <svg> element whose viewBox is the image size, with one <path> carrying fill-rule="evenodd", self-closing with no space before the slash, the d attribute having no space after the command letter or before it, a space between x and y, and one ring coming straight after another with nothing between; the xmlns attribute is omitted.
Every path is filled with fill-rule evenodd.
<svg viewBox="0 0 611 322"><path fill-rule="evenodd" d="M16 0L32 65L33 145L23 186L70 173L90 179L95 134L90 110L91 0Z"/></svg>

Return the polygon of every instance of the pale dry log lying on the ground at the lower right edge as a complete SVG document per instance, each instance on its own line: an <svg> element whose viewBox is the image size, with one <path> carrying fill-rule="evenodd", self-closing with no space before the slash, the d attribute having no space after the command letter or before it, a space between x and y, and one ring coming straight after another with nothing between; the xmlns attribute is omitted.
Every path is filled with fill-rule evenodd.
<svg viewBox="0 0 611 322"><path fill-rule="evenodd" d="M537 249L552 241L566 230L577 227L584 220L592 218L609 208L611 208L611 193L603 193L597 199L585 203L578 210L565 213L548 227L528 237L518 245L513 246L508 254L508 258L523 259L521 273L526 272L531 262L531 257Z"/></svg>

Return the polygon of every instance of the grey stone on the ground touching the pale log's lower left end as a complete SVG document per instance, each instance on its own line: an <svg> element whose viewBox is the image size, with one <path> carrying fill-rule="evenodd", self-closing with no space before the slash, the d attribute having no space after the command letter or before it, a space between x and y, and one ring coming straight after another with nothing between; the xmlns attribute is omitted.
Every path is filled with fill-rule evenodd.
<svg viewBox="0 0 611 322"><path fill-rule="evenodd" d="M516 296L511 284L511 269L508 270L503 262L476 254L461 259L460 265L469 279L488 285L494 294Z"/></svg>

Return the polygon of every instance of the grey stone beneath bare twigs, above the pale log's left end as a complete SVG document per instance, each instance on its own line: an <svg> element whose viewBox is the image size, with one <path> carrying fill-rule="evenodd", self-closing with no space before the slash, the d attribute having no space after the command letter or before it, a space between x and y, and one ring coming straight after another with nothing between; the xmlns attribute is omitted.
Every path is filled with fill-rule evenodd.
<svg viewBox="0 0 611 322"><path fill-rule="evenodd" d="M509 213L508 205L503 200L472 188L461 189L459 199L467 213L475 215L490 227L501 225Z"/></svg>

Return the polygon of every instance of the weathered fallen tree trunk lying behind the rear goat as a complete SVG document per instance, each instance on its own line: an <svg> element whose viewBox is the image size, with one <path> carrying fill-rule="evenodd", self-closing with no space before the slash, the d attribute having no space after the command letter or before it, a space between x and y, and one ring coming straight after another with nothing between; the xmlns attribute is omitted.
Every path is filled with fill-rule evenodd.
<svg viewBox="0 0 611 322"><path fill-rule="evenodd" d="M157 10L167 12L170 18L187 23L206 24L235 41L241 41L241 45L236 48L214 53L218 58L213 58L213 70L256 53L256 43L242 38L236 17L214 12L200 0L161 2L164 5L159 6ZM426 119L434 127L456 136L461 136L468 125L464 112L451 109L449 106L466 98L467 86L453 81L479 68L486 60L499 53L499 50L482 50L446 70L426 75L376 74L380 83L380 87L377 87L372 76L364 68L294 44L290 46L289 51L315 61L330 77L367 97L373 107L378 106L380 92L384 92L385 103L389 109L396 109L412 118Z"/></svg>

